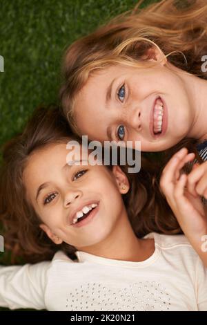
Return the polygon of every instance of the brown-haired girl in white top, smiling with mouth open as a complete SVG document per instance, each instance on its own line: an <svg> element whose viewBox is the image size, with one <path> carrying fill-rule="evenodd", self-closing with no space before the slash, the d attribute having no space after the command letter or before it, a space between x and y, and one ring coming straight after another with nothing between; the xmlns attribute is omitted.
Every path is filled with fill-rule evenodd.
<svg viewBox="0 0 207 325"><path fill-rule="evenodd" d="M42 262L0 267L0 306L206 310L207 270L186 237L141 237L136 225L145 205L137 215L132 207L127 212L124 197L132 198L138 186L142 205L151 184L141 177L139 185L130 183L119 166L88 165L82 156L69 163L70 140L75 137L59 111L39 109L4 149L5 242ZM145 217L155 228L154 216Z"/></svg>

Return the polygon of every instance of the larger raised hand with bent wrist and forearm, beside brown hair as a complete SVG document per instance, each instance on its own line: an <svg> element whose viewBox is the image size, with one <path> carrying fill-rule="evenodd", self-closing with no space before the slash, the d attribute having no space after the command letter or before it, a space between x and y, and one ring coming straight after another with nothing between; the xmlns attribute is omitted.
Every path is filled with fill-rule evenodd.
<svg viewBox="0 0 207 325"><path fill-rule="evenodd" d="M195 165L189 174L190 182L188 182L189 175L181 174L182 167L194 158L195 154L188 154L186 148L172 156L162 172L160 187L184 234L204 263L207 264L207 254L201 252L201 237L207 234L207 215L201 197L195 190L198 174L202 177L204 172L195 173L200 167L200 165ZM203 183L201 184L203 185Z"/></svg>

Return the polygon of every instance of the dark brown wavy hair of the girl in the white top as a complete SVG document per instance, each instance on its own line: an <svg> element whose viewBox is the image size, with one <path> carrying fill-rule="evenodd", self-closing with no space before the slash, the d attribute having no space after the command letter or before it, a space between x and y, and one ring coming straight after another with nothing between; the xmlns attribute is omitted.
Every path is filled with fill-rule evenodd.
<svg viewBox="0 0 207 325"><path fill-rule="evenodd" d="M70 139L81 141L68 127L68 121L60 109L41 106L34 111L23 133L3 147L0 221L6 250L12 252L12 263L19 263L19 257L30 263L52 259L59 249L67 252L71 259L77 258L74 246L66 243L55 245L39 228L41 219L26 201L26 188L22 180L28 158L35 150L54 142L67 143ZM142 237L149 232L180 233L175 216L159 192L159 183L155 178L159 166L156 162L152 164L141 157L142 168L137 174L127 174L127 165L120 167L130 182L130 190L123 199L135 234Z"/></svg>

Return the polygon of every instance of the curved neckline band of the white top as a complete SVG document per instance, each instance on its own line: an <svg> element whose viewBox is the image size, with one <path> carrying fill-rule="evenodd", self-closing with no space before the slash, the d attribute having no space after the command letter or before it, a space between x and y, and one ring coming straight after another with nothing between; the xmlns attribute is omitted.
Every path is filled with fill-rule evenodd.
<svg viewBox="0 0 207 325"><path fill-rule="evenodd" d="M151 232L150 234L147 234L144 236L144 239L154 239L155 240L155 251L153 254L148 257L145 261L141 262L135 262L135 261L121 261L117 259L106 259L106 257L99 257L97 255L89 254L87 252L82 252L81 250L78 250L75 252L77 255L77 259L79 262L90 262L90 263L98 263L98 264L104 264L108 266L119 266L119 267L130 267L130 268L145 268L146 266L149 266L151 263L154 263L157 261L159 254L160 254L160 248L159 248L159 234L155 232Z"/></svg>

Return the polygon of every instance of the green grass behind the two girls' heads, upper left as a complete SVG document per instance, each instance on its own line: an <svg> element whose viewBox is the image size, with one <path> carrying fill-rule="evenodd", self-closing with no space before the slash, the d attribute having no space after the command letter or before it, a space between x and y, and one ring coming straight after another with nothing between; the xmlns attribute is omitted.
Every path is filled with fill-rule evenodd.
<svg viewBox="0 0 207 325"><path fill-rule="evenodd" d="M0 0L0 147L22 131L36 106L57 102L63 50L137 2ZM0 263L9 261L9 252L0 252Z"/></svg>

